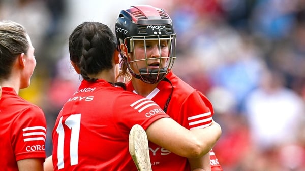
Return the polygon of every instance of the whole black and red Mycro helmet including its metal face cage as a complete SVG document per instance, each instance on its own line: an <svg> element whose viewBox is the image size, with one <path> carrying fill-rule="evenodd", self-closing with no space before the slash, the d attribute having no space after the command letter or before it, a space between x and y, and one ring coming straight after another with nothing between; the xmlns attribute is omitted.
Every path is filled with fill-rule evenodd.
<svg viewBox="0 0 305 171"><path fill-rule="evenodd" d="M127 56L121 52L121 57L127 64L127 68L133 77L141 79L146 83L155 84L161 81L171 70L175 56L176 35L173 30L172 20L168 14L152 6L132 6L122 10L116 20L115 33L120 50L120 44L127 48ZM147 56L146 44L148 41L158 42L159 57ZM168 55L161 54L161 41L167 41ZM135 53L135 42L144 43L144 59L137 59ZM143 54L142 54L143 55ZM149 69L150 60L159 60L158 69ZM146 67L139 67L137 62L145 62ZM162 66L166 64L166 66ZM155 66L156 67L156 66Z"/></svg>

